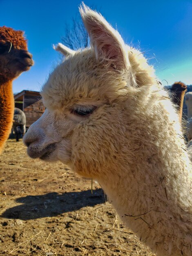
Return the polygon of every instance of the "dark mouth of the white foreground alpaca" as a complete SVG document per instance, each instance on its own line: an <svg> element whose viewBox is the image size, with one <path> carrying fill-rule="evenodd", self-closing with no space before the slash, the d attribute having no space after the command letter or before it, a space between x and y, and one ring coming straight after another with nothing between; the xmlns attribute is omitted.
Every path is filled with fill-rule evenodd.
<svg viewBox="0 0 192 256"><path fill-rule="evenodd" d="M49 144L42 150L38 150L37 146L29 146L27 153L29 157L31 158L40 158L42 160L46 160L50 157L50 155L54 152L56 149L56 144Z"/></svg>

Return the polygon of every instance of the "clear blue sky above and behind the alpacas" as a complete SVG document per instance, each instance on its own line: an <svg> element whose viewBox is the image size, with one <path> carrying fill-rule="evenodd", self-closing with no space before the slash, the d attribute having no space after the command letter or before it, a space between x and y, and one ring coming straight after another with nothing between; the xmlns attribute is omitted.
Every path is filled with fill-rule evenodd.
<svg viewBox="0 0 192 256"><path fill-rule="evenodd" d="M60 42L66 22L80 0L0 0L0 26L25 31L35 65L13 82L13 92L40 90L60 61L52 44ZM127 44L146 52L159 79L192 84L192 0L85 0L98 7ZM167 82L163 81L163 85Z"/></svg>

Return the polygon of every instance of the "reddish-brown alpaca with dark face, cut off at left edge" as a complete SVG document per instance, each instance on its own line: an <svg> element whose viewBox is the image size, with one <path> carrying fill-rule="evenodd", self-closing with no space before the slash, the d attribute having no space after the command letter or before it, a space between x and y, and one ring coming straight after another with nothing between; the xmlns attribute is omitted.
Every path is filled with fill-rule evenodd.
<svg viewBox="0 0 192 256"><path fill-rule="evenodd" d="M33 65L23 31L0 27L0 153L13 124L13 79Z"/></svg>

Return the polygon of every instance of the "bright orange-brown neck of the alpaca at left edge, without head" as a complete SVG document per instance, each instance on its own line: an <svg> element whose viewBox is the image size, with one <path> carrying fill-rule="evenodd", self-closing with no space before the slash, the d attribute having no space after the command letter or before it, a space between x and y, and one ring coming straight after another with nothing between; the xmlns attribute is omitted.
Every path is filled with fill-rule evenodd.
<svg viewBox="0 0 192 256"><path fill-rule="evenodd" d="M0 153L8 139L14 112L12 81L0 81Z"/></svg>

